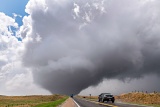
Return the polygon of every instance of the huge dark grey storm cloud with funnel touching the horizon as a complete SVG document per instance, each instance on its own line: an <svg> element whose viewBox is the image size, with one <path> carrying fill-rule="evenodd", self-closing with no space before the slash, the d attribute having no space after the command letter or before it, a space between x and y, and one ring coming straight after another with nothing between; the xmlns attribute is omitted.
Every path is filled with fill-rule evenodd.
<svg viewBox="0 0 160 107"><path fill-rule="evenodd" d="M52 93L160 74L159 0L30 0L23 64Z"/></svg>

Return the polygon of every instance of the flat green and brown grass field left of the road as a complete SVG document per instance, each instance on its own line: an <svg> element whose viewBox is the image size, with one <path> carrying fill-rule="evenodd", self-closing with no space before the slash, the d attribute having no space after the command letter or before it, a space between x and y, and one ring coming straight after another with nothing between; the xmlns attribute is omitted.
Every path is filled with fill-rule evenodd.
<svg viewBox="0 0 160 107"><path fill-rule="evenodd" d="M56 107L67 98L63 95L0 96L0 107Z"/></svg>

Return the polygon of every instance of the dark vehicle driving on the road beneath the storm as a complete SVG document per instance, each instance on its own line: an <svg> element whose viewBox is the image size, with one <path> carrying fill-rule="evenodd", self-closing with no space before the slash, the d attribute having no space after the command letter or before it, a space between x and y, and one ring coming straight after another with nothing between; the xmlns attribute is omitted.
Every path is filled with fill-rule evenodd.
<svg viewBox="0 0 160 107"><path fill-rule="evenodd" d="M99 102L112 101L114 103L115 99L111 93L101 93L98 97Z"/></svg>

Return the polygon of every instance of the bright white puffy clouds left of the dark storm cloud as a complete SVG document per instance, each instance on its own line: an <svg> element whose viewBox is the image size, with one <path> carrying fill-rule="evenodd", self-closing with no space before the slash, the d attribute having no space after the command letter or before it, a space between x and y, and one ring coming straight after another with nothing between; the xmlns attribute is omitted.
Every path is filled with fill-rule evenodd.
<svg viewBox="0 0 160 107"><path fill-rule="evenodd" d="M17 39L15 18L0 12L0 95L48 94L33 83L30 68L22 65L25 46Z"/></svg>

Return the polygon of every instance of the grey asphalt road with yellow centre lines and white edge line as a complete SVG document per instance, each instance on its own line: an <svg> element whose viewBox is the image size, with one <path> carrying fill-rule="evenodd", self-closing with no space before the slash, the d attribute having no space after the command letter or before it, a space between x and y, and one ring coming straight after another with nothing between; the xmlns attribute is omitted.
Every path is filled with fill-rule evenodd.
<svg viewBox="0 0 160 107"><path fill-rule="evenodd" d="M124 104L124 103L117 103L117 102L99 103L96 101L89 101L89 100L80 99L77 97L73 99L80 107L151 107L151 106L130 105L130 104Z"/></svg>

